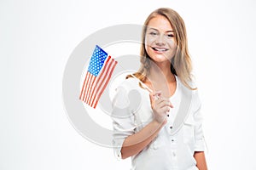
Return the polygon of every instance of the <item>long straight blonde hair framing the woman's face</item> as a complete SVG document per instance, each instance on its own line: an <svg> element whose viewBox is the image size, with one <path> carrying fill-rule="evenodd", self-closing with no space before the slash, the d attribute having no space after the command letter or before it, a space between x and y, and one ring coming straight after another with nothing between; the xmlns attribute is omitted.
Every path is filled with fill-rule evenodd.
<svg viewBox="0 0 256 170"><path fill-rule="evenodd" d="M145 42L145 36L147 31L147 26L149 20L153 19L157 15L162 15L166 17L167 20L170 21L172 28L174 30L175 40L177 43L177 50L172 58L171 61L171 71L174 75L179 77L179 80L183 83L183 85L189 89L196 89L191 88L189 86L190 82L192 82L192 64L191 59L189 56L189 50L188 50L188 41L187 41L187 32L185 28L185 24L183 19L179 14L177 14L176 11L174 11L172 8L158 8L154 10L151 14L148 15L147 20L145 20L144 26L143 26L143 34L142 34L142 45L141 45L141 66L140 69L134 73L133 75L140 79L142 82L145 82L148 74L149 74L149 68L150 68L150 58L146 52L144 42ZM127 76L126 78L129 78L131 76Z"/></svg>

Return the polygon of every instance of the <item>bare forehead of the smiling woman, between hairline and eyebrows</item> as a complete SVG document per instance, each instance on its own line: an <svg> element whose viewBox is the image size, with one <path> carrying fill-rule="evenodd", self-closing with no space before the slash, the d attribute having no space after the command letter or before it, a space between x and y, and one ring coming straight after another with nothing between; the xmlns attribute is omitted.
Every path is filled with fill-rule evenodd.
<svg viewBox="0 0 256 170"><path fill-rule="evenodd" d="M148 21L148 29L150 28L158 31L173 31L170 21L160 14Z"/></svg>

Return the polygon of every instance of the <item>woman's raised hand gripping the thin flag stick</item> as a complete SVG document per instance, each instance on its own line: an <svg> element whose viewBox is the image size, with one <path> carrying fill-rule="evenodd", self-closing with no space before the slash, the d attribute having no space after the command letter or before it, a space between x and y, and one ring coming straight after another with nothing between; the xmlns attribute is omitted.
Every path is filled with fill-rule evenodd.
<svg viewBox="0 0 256 170"><path fill-rule="evenodd" d="M161 97L161 92L155 92L149 94L151 108L154 112L154 120L158 123L166 123L166 115L173 108L172 103L169 99Z"/></svg>

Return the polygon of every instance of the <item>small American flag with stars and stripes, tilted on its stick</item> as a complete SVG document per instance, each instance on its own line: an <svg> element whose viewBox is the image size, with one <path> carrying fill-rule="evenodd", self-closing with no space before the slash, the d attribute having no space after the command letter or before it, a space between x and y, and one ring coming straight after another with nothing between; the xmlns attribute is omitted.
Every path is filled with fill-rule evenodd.
<svg viewBox="0 0 256 170"><path fill-rule="evenodd" d="M111 59L111 56L108 56L102 48L96 45L90 58L89 68L84 78L79 99L96 108L116 65L117 61Z"/></svg>

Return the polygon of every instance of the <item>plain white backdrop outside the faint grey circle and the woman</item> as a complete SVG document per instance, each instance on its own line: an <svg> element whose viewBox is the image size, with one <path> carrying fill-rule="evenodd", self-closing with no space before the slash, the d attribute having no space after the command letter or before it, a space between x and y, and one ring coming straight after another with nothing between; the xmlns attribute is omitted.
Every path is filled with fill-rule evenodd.
<svg viewBox="0 0 256 170"><path fill-rule="evenodd" d="M185 21L205 117L209 169L256 169L253 0L0 1L0 169L129 169L68 121L61 81L91 33L143 24L155 8Z"/></svg>

